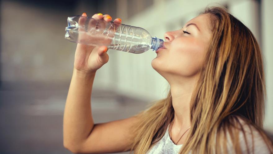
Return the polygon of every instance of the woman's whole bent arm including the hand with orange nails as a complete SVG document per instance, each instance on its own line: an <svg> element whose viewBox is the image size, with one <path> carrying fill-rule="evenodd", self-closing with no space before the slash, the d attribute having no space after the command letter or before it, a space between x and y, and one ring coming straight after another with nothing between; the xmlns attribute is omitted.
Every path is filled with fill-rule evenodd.
<svg viewBox="0 0 273 154"><path fill-rule="evenodd" d="M79 31L86 24L86 14L79 18ZM109 15L95 14L92 18L110 22ZM114 22L119 25L117 18ZM93 27L93 22L88 22ZM88 35L79 33L80 39L88 39ZM69 86L63 119L63 144L71 152L109 152L120 151L128 147L129 128L137 118L116 120L103 124L95 124L91 113L91 93L96 70L108 62L106 46L90 46L77 44L74 70ZM91 133L92 132L92 133ZM98 144L100 143L100 144Z"/></svg>

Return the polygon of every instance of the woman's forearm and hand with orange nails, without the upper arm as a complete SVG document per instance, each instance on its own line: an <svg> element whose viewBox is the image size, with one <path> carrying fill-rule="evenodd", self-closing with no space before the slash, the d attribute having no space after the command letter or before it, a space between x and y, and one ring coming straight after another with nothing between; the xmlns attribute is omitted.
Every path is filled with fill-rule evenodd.
<svg viewBox="0 0 273 154"><path fill-rule="evenodd" d="M83 14L82 16L87 15ZM107 22L112 21L111 16L108 14L95 14L92 18L103 19ZM119 18L116 18L114 22L121 24ZM79 21L79 25L83 23L84 21ZM65 103L63 122L63 144L74 153L78 153L78 145L81 145L86 140L94 127L90 103L92 85L96 70L108 62L107 50L105 45L90 46L77 44L73 75Z"/></svg>

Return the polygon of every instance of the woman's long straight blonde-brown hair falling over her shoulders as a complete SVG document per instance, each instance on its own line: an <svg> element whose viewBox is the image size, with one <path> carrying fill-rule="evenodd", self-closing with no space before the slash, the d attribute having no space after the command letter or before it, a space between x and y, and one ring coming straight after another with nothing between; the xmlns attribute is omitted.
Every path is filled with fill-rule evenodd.
<svg viewBox="0 0 273 154"><path fill-rule="evenodd" d="M179 153L227 153L223 132L229 133L235 152L241 153L238 136L243 132L245 139L246 132L239 118L262 136L272 153L272 140L263 130L266 84L257 40L224 7L206 7L200 14L210 15L212 38L191 97L191 129ZM126 151L145 154L174 118L171 91L135 116L141 120L131 128L133 142Z"/></svg>

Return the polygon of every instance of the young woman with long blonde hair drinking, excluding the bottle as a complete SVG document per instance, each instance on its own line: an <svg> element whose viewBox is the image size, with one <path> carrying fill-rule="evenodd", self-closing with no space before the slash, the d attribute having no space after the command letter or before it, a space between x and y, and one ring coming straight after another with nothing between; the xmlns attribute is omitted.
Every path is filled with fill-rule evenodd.
<svg viewBox="0 0 273 154"><path fill-rule="evenodd" d="M167 98L130 118L99 124L90 100L107 48L77 44L64 146L75 153L273 153L263 130L263 58L252 32L225 8L207 7L164 37L165 49L151 65L170 84Z"/></svg>

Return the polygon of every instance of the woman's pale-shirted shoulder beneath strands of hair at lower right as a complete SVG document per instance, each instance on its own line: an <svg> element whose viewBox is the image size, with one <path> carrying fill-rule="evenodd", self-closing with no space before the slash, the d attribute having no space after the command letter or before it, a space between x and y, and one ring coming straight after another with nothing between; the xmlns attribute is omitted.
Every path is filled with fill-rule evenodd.
<svg viewBox="0 0 273 154"><path fill-rule="evenodd" d="M263 130L242 117L236 116L234 127L227 133L228 147L234 149L235 144L239 144L243 153L271 153L265 141ZM237 140L237 143L234 141ZM235 141L236 142L236 141Z"/></svg>

